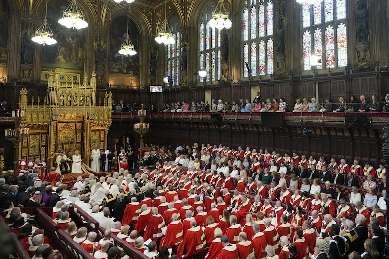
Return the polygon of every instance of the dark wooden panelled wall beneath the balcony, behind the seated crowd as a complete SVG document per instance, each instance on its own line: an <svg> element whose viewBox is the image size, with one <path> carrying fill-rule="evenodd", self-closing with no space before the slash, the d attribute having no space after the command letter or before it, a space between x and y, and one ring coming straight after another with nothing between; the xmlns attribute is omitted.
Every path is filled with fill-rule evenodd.
<svg viewBox="0 0 389 259"><path fill-rule="evenodd" d="M112 127L115 127L113 125ZM242 145L251 148L269 149L280 154L297 151L299 155L313 155L318 160L324 156L327 161L334 157L338 162L345 158L352 164L370 161L374 166L383 162L381 157L381 130L360 130L335 127L311 127L312 134L304 135L301 127L289 126L282 129L263 128L261 125L234 124L230 130L215 128L210 124L152 123L145 143L168 145L174 149L177 144L193 145L197 142L223 144L230 148ZM135 135L136 136L136 135ZM113 137L113 136L112 136ZM137 139L137 136L135 137Z"/></svg>

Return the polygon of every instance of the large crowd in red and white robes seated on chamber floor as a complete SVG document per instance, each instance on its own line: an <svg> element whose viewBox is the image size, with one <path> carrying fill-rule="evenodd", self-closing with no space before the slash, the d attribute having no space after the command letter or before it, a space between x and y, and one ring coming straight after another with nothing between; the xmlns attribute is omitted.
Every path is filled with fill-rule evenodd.
<svg viewBox="0 0 389 259"><path fill-rule="evenodd" d="M383 256L377 249L385 242L383 165L211 144L186 150L178 145L175 154L152 170L121 170L100 179L91 174L69 187L57 182L54 188L35 175L1 176L2 216L12 232L23 234L21 242L29 242L29 215L22 216L20 207L52 207L53 222L95 258L124 256L112 238L150 258L169 258L168 248L170 258ZM26 188L30 180L34 184ZM101 233L76 225L63 197L97 220ZM31 236L39 230L33 231ZM29 243L33 251L50 245L36 236Z"/></svg>

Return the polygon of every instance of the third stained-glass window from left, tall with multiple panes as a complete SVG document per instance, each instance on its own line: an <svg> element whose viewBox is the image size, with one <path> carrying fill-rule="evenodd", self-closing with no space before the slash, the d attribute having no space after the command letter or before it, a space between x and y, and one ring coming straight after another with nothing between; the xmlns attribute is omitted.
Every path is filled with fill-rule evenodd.
<svg viewBox="0 0 389 259"><path fill-rule="evenodd" d="M247 0L242 10L243 61L253 77L274 71L273 1ZM248 78L248 67L243 66L243 77Z"/></svg>

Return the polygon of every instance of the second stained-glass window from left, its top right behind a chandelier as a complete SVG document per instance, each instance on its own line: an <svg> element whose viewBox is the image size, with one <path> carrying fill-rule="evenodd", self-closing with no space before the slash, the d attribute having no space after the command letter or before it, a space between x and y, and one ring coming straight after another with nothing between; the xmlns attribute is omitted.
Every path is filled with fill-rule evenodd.
<svg viewBox="0 0 389 259"><path fill-rule="evenodd" d="M199 42L198 58L199 69L207 70L206 82L217 82L221 76L221 31L212 29L208 21L212 18L212 12L215 9L214 3L205 6L198 19ZM224 29L226 30L226 29ZM200 82L203 79L200 78Z"/></svg>

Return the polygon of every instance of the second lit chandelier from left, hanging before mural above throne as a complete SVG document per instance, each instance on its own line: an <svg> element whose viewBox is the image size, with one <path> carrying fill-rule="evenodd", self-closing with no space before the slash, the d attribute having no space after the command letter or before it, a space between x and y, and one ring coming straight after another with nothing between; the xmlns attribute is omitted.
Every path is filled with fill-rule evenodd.
<svg viewBox="0 0 389 259"><path fill-rule="evenodd" d="M78 7L76 0L72 0L58 23L66 28L84 29L88 27L88 23L84 20L84 17L84 13Z"/></svg>

